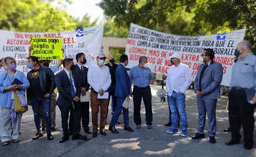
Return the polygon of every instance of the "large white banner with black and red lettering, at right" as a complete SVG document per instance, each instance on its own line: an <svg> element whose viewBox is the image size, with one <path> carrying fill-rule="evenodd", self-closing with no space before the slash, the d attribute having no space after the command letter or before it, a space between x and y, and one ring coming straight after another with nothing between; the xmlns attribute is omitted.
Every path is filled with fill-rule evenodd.
<svg viewBox="0 0 256 157"><path fill-rule="evenodd" d="M204 36L180 36L164 34L139 25L130 24L126 44L126 55L129 58L127 68L139 64L140 56L147 56L152 73L167 74L170 56L181 53L181 61L190 68L194 80L201 52L204 48L213 48L214 60L223 66L222 85L229 86L231 81L234 52L237 43L244 39L245 29Z"/></svg>

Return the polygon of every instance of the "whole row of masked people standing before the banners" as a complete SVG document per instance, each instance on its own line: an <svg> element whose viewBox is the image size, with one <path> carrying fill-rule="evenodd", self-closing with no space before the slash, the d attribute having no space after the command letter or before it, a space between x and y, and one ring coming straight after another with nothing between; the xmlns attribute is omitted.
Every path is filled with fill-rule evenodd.
<svg viewBox="0 0 256 157"><path fill-rule="evenodd" d="M29 48L29 52L31 47ZM250 42L244 40L235 49L235 60L231 76L231 92L229 93L229 125L231 140L226 145L240 142L240 127L244 130L244 148L251 149L254 145L254 105L256 102L256 56L252 53ZM72 58L65 58L52 68L50 61L39 60L35 56L27 58L27 68L30 71L25 76L16 70L16 60L11 56L3 58L0 69L0 138L6 146L12 141L20 141L22 113L14 111L14 94L27 97L27 104L32 105L34 122L37 132L32 137L37 140L43 137L46 129L47 139L52 140L52 131L56 130L55 109L58 105L65 142L71 135L72 140L86 140L81 135L81 125L85 133L95 138L99 134L105 136L105 125L109 100L112 98L112 118L109 130L119 133L116 124L119 123L121 112L124 119L124 130L134 132L129 125L129 107L126 102L133 97L133 117L135 128L142 128L140 107L142 99L145 105L145 121L147 128L152 128L152 94L150 84L153 76L149 68L147 56L140 56L139 64L127 73L129 63L127 55L121 55L119 65L114 62L114 55L107 57L104 53L96 56L96 64L86 68L84 53L76 54L76 64ZM104 65L106 59L109 60ZM180 53L170 57L172 65L168 69L166 88L170 110L170 126L167 133L179 132L181 121L181 137L188 136L186 117L186 89L191 84L190 70L182 63ZM220 98L219 86L222 81L222 65L214 61L214 51L206 48L201 52L198 73L194 79L194 92L198 104L198 129L191 140L205 138L204 125L208 115L209 143L216 143L216 104ZM63 70L58 72L60 65ZM14 84L19 79L21 84ZM132 87L133 86L133 87ZM55 89L57 88L58 97ZM251 89L251 90L249 90ZM26 93L25 93L26 91ZM252 94L248 100L248 91ZM20 98L21 99L21 98ZM91 105L92 130L89 128L89 105ZM100 117L98 126L98 115ZM42 122L41 122L42 121ZM12 132L10 131L12 130ZM99 133L98 133L99 130Z"/></svg>

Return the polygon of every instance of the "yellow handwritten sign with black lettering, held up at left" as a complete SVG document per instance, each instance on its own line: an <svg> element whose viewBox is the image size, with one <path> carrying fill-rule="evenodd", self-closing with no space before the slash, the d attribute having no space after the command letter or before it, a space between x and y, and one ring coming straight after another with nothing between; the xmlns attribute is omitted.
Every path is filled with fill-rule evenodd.
<svg viewBox="0 0 256 157"><path fill-rule="evenodd" d="M39 60L62 60L62 38L30 38L31 55Z"/></svg>

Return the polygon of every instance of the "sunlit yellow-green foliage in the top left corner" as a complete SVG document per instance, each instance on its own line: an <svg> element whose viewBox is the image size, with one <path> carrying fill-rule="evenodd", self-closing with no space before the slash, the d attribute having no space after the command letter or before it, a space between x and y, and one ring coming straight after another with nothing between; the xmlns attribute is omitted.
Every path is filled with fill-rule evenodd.
<svg viewBox="0 0 256 157"><path fill-rule="evenodd" d="M57 32L75 29L76 24L71 16L48 3L36 0L16 1L14 9L15 12L9 14L6 20L2 20L1 29L20 32Z"/></svg>

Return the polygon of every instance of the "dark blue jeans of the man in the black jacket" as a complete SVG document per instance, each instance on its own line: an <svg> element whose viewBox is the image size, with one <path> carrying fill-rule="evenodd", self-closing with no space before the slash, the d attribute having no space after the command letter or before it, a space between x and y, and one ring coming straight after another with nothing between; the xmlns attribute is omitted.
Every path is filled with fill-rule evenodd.
<svg viewBox="0 0 256 157"><path fill-rule="evenodd" d="M43 116L45 117L46 132L50 133L51 125L52 125L52 119L50 114L50 97L49 98L32 97L31 103L32 103L32 109L34 112L35 127L37 128L37 131L39 132L39 130L41 130L40 109L42 107Z"/></svg>

